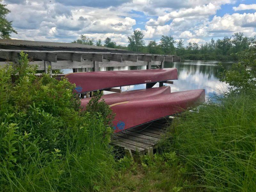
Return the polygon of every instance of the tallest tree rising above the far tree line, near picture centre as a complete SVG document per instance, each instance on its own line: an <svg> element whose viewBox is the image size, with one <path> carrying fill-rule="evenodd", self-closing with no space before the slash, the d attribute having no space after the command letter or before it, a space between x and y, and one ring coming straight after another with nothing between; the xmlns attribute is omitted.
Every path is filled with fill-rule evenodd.
<svg viewBox="0 0 256 192"><path fill-rule="evenodd" d="M128 48L131 51L139 52L140 48L145 45L143 33L140 30L134 30L132 36L128 36Z"/></svg>

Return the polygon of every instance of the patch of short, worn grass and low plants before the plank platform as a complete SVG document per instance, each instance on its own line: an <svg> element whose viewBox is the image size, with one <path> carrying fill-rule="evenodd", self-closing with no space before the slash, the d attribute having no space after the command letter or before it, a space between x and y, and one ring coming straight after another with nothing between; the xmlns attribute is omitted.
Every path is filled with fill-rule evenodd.
<svg viewBox="0 0 256 192"><path fill-rule="evenodd" d="M114 192L126 191L199 191L195 179L187 174L182 158L169 149L151 158L142 156L139 163L124 157L118 160L118 172L113 180Z"/></svg>

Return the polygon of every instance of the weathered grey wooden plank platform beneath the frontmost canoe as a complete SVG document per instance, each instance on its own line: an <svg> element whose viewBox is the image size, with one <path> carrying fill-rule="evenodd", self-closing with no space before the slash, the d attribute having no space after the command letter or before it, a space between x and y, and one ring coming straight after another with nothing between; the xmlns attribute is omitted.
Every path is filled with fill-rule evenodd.
<svg viewBox="0 0 256 192"><path fill-rule="evenodd" d="M158 119L117 133L112 136L111 143L127 150L131 156L136 153L140 156L148 153L151 156L153 149L157 148L159 141L165 136L167 122L167 118Z"/></svg>

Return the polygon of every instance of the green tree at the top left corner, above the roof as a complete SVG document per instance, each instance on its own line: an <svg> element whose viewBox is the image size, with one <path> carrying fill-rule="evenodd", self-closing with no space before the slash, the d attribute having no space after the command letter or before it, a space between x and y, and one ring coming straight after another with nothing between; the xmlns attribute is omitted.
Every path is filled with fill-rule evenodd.
<svg viewBox="0 0 256 192"><path fill-rule="evenodd" d="M1 4L2 0L0 0L0 37L4 39L10 39L11 33L16 33L12 28L12 21L8 21L6 19L6 15L11 11L8 10L6 4Z"/></svg>

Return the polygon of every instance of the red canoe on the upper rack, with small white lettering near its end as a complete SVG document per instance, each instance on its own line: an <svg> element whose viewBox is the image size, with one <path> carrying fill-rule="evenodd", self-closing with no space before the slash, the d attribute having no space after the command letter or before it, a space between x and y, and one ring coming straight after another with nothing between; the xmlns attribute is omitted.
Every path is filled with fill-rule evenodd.
<svg viewBox="0 0 256 192"><path fill-rule="evenodd" d="M154 83L178 79L176 68L123 71L95 71L69 73L70 83L76 84L76 93L96 91L112 87Z"/></svg>

